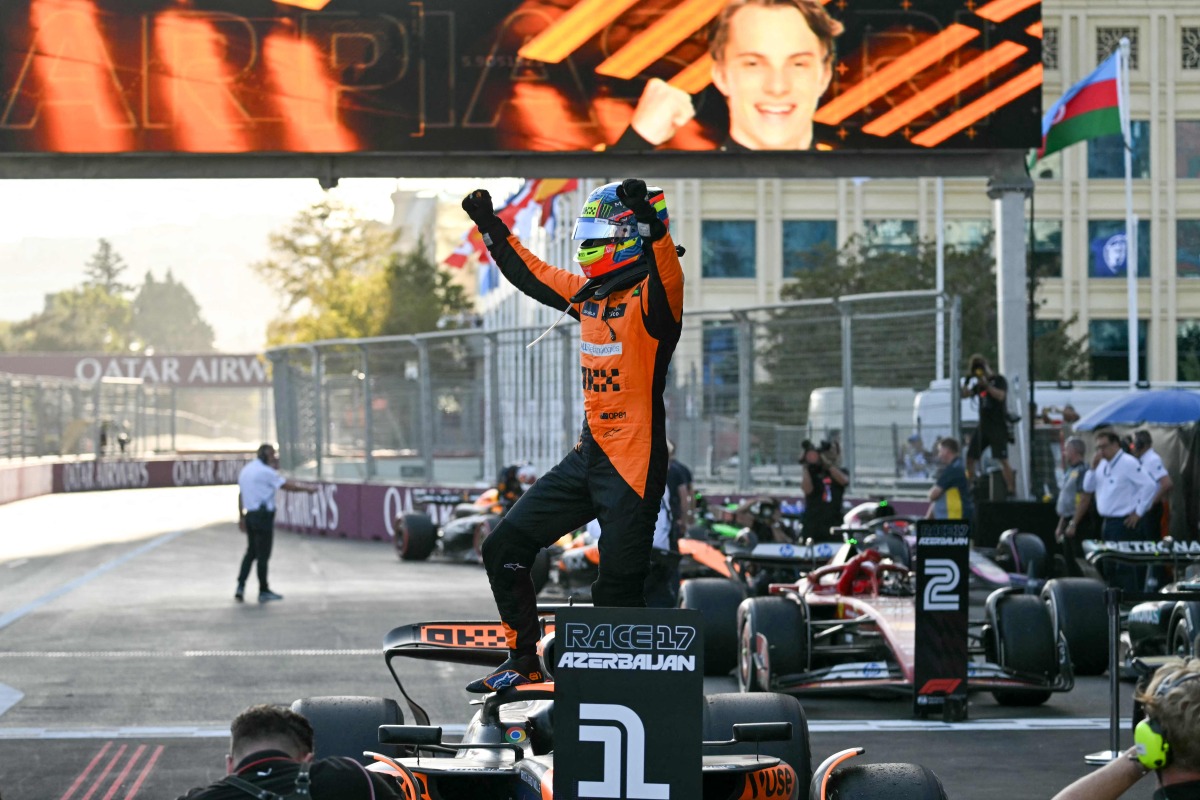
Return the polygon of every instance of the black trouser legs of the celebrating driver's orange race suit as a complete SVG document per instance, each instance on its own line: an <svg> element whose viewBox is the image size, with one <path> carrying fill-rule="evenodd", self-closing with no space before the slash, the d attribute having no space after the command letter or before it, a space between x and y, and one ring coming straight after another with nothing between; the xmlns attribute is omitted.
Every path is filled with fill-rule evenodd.
<svg viewBox="0 0 1200 800"><path fill-rule="evenodd" d="M515 633L514 655L534 652L541 628L529 567L541 548L592 519L600 522L595 606L644 607L654 523L667 480L666 435L654 435L646 493L640 497L608 461L587 427L580 444L521 495L484 540L484 566L500 620Z"/></svg>

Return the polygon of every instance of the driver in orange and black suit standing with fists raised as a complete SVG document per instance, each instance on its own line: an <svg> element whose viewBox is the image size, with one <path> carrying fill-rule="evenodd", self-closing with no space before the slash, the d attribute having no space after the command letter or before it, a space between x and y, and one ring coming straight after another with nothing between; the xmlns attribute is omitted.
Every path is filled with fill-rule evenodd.
<svg viewBox="0 0 1200 800"><path fill-rule="evenodd" d="M583 275L542 261L496 216L486 190L462 207L512 285L580 320L583 429L484 541L484 565L509 658L468 692L545 680L529 567L563 534L600 522L596 606L646 604L643 584L666 487L662 390L683 327L683 267L667 233L662 190L630 178L592 191L575 223Z"/></svg>

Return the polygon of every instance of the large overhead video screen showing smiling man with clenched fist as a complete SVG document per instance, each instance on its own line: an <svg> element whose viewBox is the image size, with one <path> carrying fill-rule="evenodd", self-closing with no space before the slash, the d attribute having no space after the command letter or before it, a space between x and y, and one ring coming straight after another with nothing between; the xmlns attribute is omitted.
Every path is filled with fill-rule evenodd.
<svg viewBox="0 0 1200 800"><path fill-rule="evenodd" d="M5 0L0 154L1025 149L1039 0Z"/></svg>

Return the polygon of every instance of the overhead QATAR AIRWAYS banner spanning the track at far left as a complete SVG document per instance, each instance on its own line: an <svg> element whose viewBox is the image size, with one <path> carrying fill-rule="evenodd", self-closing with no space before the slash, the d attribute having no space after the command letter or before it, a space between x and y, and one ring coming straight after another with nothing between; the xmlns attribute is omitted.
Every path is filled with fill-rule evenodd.
<svg viewBox="0 0 1200 800"><path fill-rule="evenodd" d="M128 378L161 386L270 386L266 359L257 353L203 355L114 355L74 353L0 354L0 372L96 381Z"/></svg>

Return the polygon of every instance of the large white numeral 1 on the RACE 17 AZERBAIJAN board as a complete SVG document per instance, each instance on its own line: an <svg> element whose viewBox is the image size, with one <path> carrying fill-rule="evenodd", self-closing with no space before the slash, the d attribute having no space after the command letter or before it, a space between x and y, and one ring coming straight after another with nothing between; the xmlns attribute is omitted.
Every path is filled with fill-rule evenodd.
<svg viewBox="0 0 1200 800"><path fill-rule="evenodd" d="M582 724L588 721L607 724ZM604 745L604 780L580 781L581 798L667 800L671 796L670 783L646 782L646 728L631 708L616 703L580 703L580 741Z"/></svg>

